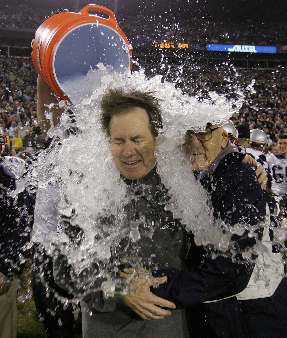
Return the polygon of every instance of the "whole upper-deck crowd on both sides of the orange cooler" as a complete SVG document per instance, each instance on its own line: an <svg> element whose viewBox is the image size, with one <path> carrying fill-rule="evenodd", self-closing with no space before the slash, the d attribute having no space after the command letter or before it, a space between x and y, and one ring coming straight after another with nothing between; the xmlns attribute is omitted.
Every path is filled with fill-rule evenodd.
<svg viewBox="0 0 287 338"><path fill-rule="evenodd" d="M51 11L27 5L0 5L0 24L2 28L34 29L50 16ZM283 22L244 22L210 21L201 18L163 19L145 18L142 15L117 16L121 29L129 40L149 39L184 41L204 46L206 43L285 45L287 24ZM143 30L142 27L145 27Z"/></svg>

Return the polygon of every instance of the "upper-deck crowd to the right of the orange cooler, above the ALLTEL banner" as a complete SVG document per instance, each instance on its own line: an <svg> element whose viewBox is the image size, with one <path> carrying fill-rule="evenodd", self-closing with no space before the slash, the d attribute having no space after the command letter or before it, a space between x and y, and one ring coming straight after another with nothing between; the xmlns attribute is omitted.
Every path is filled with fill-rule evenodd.
<svg viewBox="0 0 287 338"><path fill-rule="evenodd" d="M194 45L207 43L221 44L256 44L285 45L286 23L259 23L247 20L244 22L208 21L192 18L191 20L162 20L127 16L119 21L128 39L142 38L188 42ZM144 32L142 27L145 27Z"/></svg>

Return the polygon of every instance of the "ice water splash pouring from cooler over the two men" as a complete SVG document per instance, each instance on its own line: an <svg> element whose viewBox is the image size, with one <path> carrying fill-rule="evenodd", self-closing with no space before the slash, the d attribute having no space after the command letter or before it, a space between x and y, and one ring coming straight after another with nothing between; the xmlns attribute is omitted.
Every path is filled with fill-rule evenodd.
<svg viewBox="0 0 287 338"><path fill-rule="evenodd" d="M160 75L148 79L142 70L120 74L111 67L98 67L85 78L67 80L65 86L73 106L66 107L60 125L54 127L53 134L59 135L60 144L55 142L53 151L38 157L30 177L31 183L42 188L52 182L59 184L56 208L64 217L59 232L50 233L50 240L43 244L51 255L56 248L57 254L66 257L73 271L68 278L79 295L97 290L107 295L127 292L115 268L122 262L113 254L122 239L136 243L139 238L138 224L125 222L124 207L133 196L127 194L99 122L101 98L109 88L121 88L126 93L133 89L153 92L159 99L164 127L158 137L156 159L157 171L171 196L166 208L182 219L187 231L193 232L195 243L210 244L225 252L234 232L222 221L214 221L208 196L196 181L181 145L187 129L199 131L207 122L225 123L234 113L234 105L237 109L241 105L243 94L238 91L239 99L227 101L223 95L209 93L213 104L208 100L198 102L195 97L183 95L174 84L162 81ZM71 123L72 119L76 122ZM69 137L63 138L67 133ZM66 222L72 224L73 234L67 233ZM142 264L136 255L135 245L133 257L126 259L140 270Z"/></svg>

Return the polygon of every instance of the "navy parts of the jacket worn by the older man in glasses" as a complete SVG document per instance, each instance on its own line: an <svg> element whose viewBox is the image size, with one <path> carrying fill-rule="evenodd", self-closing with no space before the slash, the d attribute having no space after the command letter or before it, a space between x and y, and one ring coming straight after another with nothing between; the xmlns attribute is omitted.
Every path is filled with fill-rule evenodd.
<svg viewBox="0 0 287 338"><path fill-rule="evenodd" d="M237 154L228 154L212 174L201 178L201 184L211 193L215 218L221 217L230 225L242 216L248 219L250 225L263 220L266 202L262 189L254 169L242 163ZM258 235L261 236L260 233ZM255 244L254 237L248 237L247 231L242 237L233 235L232 239L240 249ZM178 308L187 308L207 300L229 297L245 288L254 265L234 263L231 258L223 256L204 258L206 250L195 245L193 236L190 241L185 269L154 272L155 276L168 276L167 283L155 289L157 296L172 301Z"/></svg>

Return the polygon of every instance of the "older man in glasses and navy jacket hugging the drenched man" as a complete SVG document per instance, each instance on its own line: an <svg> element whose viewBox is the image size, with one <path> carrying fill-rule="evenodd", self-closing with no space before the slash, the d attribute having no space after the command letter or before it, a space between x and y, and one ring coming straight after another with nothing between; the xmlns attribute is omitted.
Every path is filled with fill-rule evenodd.
<svg viewBox="0 0 287 338"><path fill-rule="evenodd" d="M153 318L155 296L186 308L190 337L286 337L284 264L281 253L272 252L270 200L254 169L241 162L218 125L207 124L205 132L188 130L183 149L210 194L214 219L231 231L229 250L197 246L191 235L186 268L154 271L154 277L167 276L167 283L153 289L154 294L149 286L140 287L126 296L126 303L142 318Z"/></svg>

